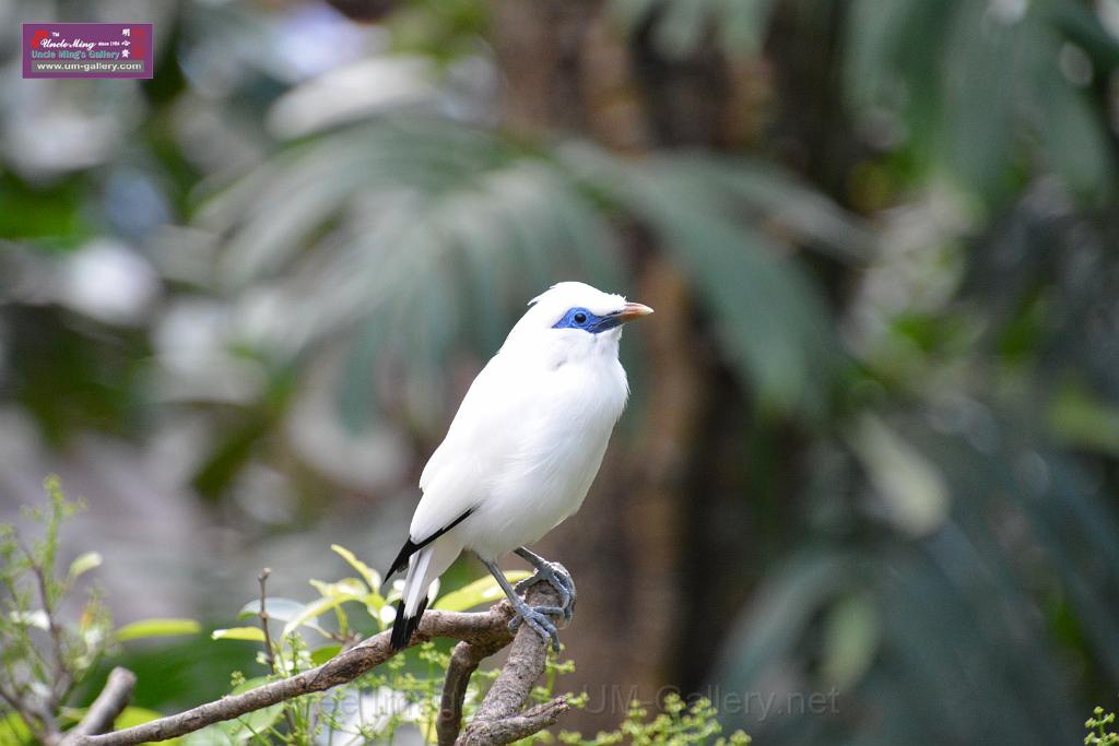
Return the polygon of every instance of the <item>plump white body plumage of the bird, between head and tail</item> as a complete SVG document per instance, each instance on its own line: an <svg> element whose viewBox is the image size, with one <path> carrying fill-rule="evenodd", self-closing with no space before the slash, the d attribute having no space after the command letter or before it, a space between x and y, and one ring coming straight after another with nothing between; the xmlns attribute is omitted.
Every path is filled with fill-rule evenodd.
<svg viewBox="0 0 1119 746"><path fill-rule="evenodd" d="M618 334L574 332L572 342L496 356L424 474L425 502L469 493L453 499L477 506L454 533L485 558L532 544L579 509L626 406Z"/></svg>

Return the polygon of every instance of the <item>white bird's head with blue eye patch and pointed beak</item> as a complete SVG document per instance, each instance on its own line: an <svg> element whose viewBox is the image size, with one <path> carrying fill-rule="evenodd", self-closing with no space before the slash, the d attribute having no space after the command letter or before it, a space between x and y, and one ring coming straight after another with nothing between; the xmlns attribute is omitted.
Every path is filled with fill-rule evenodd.
<svg viewBox="0 0 1119 746"><path fill-rule="evenodd" d="M528 311L509 332L509 341L535 339L581 348L617 346L622 324L650 313L648 305L630 303L621 295L581 282L562 282L529 302Z"/></svg>

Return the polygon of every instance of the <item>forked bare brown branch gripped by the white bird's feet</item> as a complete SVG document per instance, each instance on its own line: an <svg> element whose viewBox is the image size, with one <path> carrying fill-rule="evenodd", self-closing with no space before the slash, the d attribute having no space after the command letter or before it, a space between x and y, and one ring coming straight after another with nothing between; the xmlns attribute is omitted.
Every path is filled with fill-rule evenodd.
<svg viewBox="0 0 1119 746"><path fill-rule="evenodd" d="M526 599L532 605L554 605L558 603L558 596L547 583L533 585L526 594ZM474 740L463 743L488 743L506 744L517 738L523 738L540 730L555 723L567 703L563 699L547 702L543 706L534 707L524 714L520 709L532 693L533 684L544 671L544 660L547 652L545 642L527 625L521 625L516 639L509 632L509 622L514 617L513 606L508 601L501 601L490 607L489 611L478 613L444 612L432 610L423 615L420 629L410 641L410 645L426 642L432 638L452 638L461 640L469 645L469 652L462 652L457 663L452 657L451 667L448 669L448 678L451 688L450 701L444 692L444 708L457 714L453 717L453 730L458 731L459 720L462 714L462 696L466 693L467 682L470 673L478 668L478 662L486 655L497 652L501 648L514 642L513 652L506 663L501 676L495 681L493 688L479 710L479 717L483 714L485 729L468 729L464 738ZM455 646L458 652L462 644ZM303 695L325 691L332 687L352 681L363 673L374 669L389 658L396 651L389 644L389 632L368 638L354 648L339 653L322 665L298 673L289 679L272 681L262 687L241 695L224 697L219 700L207 702L194 709L159 718L143 725L125 728L115 733L103 735L75 734L70 737L67 734L65 746L134 746L147 742L159 742L200 730L201 728L232 720L248 712L271 707L279 702L294 699ZM470 667L470 662L477 658L477 662ZM469 668L469 670L468 670ZM106 687L107 691L109 687ZM498 693L495 693L495 689ZM106 692L97 698L107 697ZM519 698L519 700L518 700ZM92 709L91 709L92 712ZM115 716L114 716L115 717ZM477 718L476 718L477 720ZM440 723L444 723L444 715L440 714ZM473 728L474 724L471 724ZM443 742L443 733L450 733L452 727L449 715L443 725L438 726L440 730L440 743ZM521 734L521 735L517 735ZM487 740L477 740L478 737L487 737ZM489 736L492 736L490 738ZM453 735L450 736L453 742ZM450 743L450 742L448 742Z"/></svg>

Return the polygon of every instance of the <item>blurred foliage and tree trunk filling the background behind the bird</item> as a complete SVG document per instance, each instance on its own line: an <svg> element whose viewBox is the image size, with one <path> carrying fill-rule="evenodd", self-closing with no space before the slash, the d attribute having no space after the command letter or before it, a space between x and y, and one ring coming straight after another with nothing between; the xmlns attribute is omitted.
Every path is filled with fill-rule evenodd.
<svg viewBox="0 0 1119 746"><path fill-rule="evenodd" d="M156 76L23 81L32 20L151 21ZM781 744L1079 743L1113 707L1119 1L0 0L0 517L60 473L117 618L225 626L332 541L384 566L473 375L579 278L657 315L542 544L581 591L570 726L617 723L611 688ZM139 703L220 693L229 650L138 654Z"/></svg>

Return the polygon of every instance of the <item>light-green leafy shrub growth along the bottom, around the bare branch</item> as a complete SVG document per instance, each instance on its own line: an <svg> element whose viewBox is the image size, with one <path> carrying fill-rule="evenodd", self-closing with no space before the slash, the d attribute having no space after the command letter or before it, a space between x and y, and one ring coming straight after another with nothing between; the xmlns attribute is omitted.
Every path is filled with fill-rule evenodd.
<svg viewBox="0 0 1119 746"><path fill-rule="evenodd" d="M27 510L26 516L43 528L38 541L28 544L11 525L0 525L0 746L45 743L51 734L72 727L85 715L72 699L103 663L138 639L197 634L192 620L152 618L120 627L112 624L96 585L87 573L102 564L96 553L86 553L57 570L58 535L64 521L84 507L63 495L58 480L46 481L49 504ZM385 587L380 575L345 547L333 545L355 575L333 582L312 579L316 595L310 601L269 596L269 570L260 577L261 594L242 606L238 626L215 630L219 644L257 645L256 661L262 674L231 676L231 692L241 693L269 681L295 676L327 662L346 646L384 631L394 616L393 603L401 584ZM509 573L510 582L528 573ZM85 578L85 579L83 579ZM79 583L79 580L82 580ZM59 613L63 599L82 597L76 618ZM490 604L501 596L493 578L486 577L436 599L433 607L466 611ZM72 607L73 604L66 604ZM326 692L305 695L217 723L179 739L186 746L236 746L239 744L392 743L403 727L417 728L434 742L443 676L450 662L445 642L426 642L389 659L379 668ZM555 695L561 676L574 671L572 661L549 654L544 681L532 699L544 702ZM499 670L479 670L463 701L463 718L477 711ZM585 706L585 695L567 695L575 707ZM576 733L557 736L540 733L523 743L600 746L603 744L713 744L744 745L750 738L736 731L721 737L716 711L707 700L686 703L670 696L664 711L652 715L633 702L615 730L585 738ZM116 728L140 725L161 717L154 710L129 707ZM1113 716L1112 716L1113 717ZM1100 742L1112 743L1112 742Z"/></svg>

